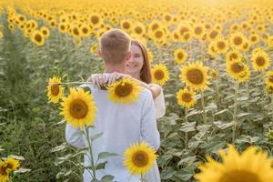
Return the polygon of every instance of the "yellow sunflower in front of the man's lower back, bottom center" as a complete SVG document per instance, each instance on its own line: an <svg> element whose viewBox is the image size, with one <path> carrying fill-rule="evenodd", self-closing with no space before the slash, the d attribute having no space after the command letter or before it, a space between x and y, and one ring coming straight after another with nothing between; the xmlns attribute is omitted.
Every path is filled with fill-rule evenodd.
<svg viewBox="0 0 273 182"><path fill-rule="evenodd" d="M124 156L124 166L133 175L145 175L157 159L156 150L145 142L127 148Z"/></svg>

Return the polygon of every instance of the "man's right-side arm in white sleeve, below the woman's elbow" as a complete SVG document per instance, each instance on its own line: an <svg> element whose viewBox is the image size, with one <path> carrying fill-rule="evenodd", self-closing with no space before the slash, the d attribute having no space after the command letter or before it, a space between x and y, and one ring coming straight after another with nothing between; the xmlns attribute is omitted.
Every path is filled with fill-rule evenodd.
<svg viewBox="0 0 273 182"><path fill-rule="evenodd" d="M157 131L156 110L153 96L150 92L148 92L142 107L140 127L142 140L146 141L149 146L154 147L157 150L160 147L160 136Z"/></svg>

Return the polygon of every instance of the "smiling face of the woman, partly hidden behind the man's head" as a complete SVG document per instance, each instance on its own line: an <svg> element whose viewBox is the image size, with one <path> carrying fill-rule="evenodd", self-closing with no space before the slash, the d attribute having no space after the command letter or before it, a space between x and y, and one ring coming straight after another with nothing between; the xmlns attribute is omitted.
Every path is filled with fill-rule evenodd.
<svg viewBox="0 0 273 182"><path fill-rule="evenodd" d="M140 74L140 71L144 64L144 57L141 49L137 45L131 45L131 58L126 61L126 74L136 76Z"/></svg>

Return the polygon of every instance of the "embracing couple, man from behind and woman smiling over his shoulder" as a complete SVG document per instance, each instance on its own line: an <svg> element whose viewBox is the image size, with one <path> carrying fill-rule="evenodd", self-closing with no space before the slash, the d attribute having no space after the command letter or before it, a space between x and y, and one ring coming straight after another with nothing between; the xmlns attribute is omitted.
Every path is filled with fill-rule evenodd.
<svg viewBox="0 0 273 182"><path fill-rule="evenodd" d="M112 175L117 182L138 182L140 177L130 175L126 170L123 154L126 148L137 142L146 142L155 150L160 146L157 118L165 115L163 90L161 86L151 84L147 47L131 40L122 30L111 29L101 36L98 55L104 60L105 72L94 74L87 80L93 83L86 86L94 96L97 107L95 127L89 128L89 132L92 135L103 133L93 142L94 157L105 151L118 156L107 159L106 169L98 170L96 175L99 179ZM107 97L108 91L101 89L121 77L128 77L143 87L138 100L131 105L112 102ZM79 135L79 130L67 124L66 141L74 147L83 148L86 141ZM88 156L85 156L85 166L90 166ZM148 182L160 181L157 164L147 172L146 178ZM91 180L86 169L84 181Z"/></svg>

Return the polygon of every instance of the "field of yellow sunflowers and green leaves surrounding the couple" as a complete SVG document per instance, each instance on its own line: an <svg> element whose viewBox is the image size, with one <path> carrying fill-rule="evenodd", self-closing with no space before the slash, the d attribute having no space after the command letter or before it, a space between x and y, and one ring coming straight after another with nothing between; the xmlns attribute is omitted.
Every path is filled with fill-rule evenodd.
<svg viewBox="0 0 273 182"><path fill-rule="evenodd" d="M162 181L273 182L272 0L1 0L0 182L82 181L52 97L70 85L48 83L102 73L111 28L147 45L163 87Z"/></svg>

